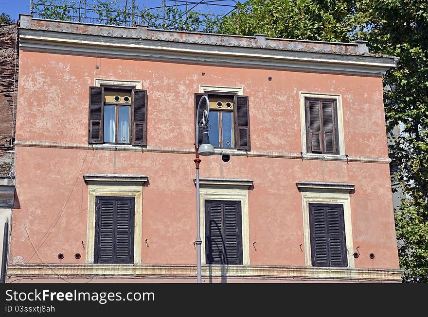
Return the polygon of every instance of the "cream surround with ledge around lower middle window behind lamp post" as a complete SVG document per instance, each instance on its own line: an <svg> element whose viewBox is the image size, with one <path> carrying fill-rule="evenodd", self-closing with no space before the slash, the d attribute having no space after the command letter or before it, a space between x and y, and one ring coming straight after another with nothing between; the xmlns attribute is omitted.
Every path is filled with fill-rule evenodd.
<svg viewBox="0 0 428 317"><path fill-rule="evenodd" d="M196 180L194 180L195 182ZM250 265L250 228L249 228L249 207L248 188L252 185L251 180L240 179L199 179L199 216L200 216L200 237L201 263L206 265L205 254L205 200L239 200L241 201L241 221L242 221L242 264ZM213 264L212 266L221 266ZM236 265L233 265L236 266Z"/></svg>

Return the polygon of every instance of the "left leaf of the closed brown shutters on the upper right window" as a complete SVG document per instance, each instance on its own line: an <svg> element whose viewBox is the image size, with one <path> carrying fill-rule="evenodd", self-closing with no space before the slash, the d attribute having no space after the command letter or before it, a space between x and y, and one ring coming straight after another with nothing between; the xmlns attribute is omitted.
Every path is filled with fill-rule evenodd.
<svg viewBox="0 0 428 317"><path fill-rule="evenodd" d="M306 100L306 134L309 153L322 153L321 107L318 100Z"/></svg>

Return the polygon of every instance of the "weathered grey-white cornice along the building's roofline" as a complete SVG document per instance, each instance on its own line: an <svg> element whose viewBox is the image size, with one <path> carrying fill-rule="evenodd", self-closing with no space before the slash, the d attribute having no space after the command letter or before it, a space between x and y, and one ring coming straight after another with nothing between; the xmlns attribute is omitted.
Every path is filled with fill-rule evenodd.
<svg viewBox="0 0 428 317"><path fill-rule="evenodd" d="M281 41L287 42L281 44ZM140 26L118 28L22 15L19 28L21 50L67 55L369 76L381 76L395 67L397 60L393 56L368 54L361 46L269 39L260 35L233 38Z"/></svg>

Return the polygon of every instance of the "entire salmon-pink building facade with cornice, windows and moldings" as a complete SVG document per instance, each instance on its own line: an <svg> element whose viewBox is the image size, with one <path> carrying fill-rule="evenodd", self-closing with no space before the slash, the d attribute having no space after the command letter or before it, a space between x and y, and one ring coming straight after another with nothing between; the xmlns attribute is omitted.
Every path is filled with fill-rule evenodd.
<svg viewBox="0 0 428 317"><path fill-rule="evenodd" d="M401 282L393 57L24 15L19 34L7 282L195 282L198 94L219 115L200 165L203 282Z"/></svg>

